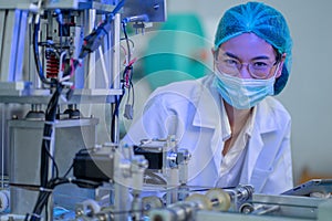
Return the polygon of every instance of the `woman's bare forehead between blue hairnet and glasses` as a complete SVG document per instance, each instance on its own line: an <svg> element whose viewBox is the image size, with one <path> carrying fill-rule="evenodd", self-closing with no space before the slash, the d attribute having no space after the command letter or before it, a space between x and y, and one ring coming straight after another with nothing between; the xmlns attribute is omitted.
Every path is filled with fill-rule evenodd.
<svg viewBox="0 0 332 221"><path fill-rule="evenodd" d="M274 56L271 44L255 33L242 33L220 45L224 52L237 55L240 59L252 59L257 56ZM220 54L220 53L219 53Z"/></svg>

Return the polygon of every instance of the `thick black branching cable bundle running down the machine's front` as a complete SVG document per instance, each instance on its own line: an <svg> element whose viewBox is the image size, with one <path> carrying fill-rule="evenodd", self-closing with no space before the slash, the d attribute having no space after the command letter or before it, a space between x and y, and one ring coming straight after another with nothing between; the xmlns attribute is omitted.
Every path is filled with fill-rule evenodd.
<svg viewBox="0 0 332 221"><path fill-rule="evenodd" d="M92 51L95 50L95 48L98 48L100 45L100 40L101 38L105 34L105 31L110 29L110 24L114 18L114 14L120 11L120 9L124 6L125 0L122 0L118 2L118 4L115 7L111 15L108 15L107 20L104 22L103 25L100 27L98 32L94 32L87 38L90 40L89 45L83 45L81 49L81 53L79 55L79 60L71 61L71 65L68 65L63 72L63 76L66 77L68 75L71 75L74 72L74 69L81 63L81 60L87 55L87 53L91 53ZM60 19L60 18L59 18ZM53 125L55 122L56 117L56 109L58 109L58 104L59 104L59 97L62 94L62 91L64 88L65 82L59 82L56 80L51 80L49 82L45 78L45 75L43 73L43 69L41 65L41 62L39 60L39 46L38 46L38 32L40 28L40 21L37 19L37 22L34 23L34 33L33 33L33 49L34 49L34 61L38 70L38 74L40 80L45 83L45 84L52 84L55 85L55 91L48 104L46 112L45 112L45 124L44 124L44 130L43 130L43 140L42 140L42 147L41 147L41 167L40 167L40 183L41 183L41 190L38 196L38 200L34 204L33 212L32 214L27 214L25 220L30 218L31 221L38 221L41 219L41 213L45 204L48 203L48 199L52 191L49 191L50 189L53 190L54 187L66 183L66 182L72 182L76 183L77 186L87 186L92 188L96 188L100 186L100 183L92 182L92 181L86 181L86 180L70 180L65 177L59 178L59 169L55 164L55 159L52 157L50 152L50 144L52 140L52 133L53 133ZM62 29L62 28L61 28ZM116 98L116 108L114 114L117 115L117 109L118 105L121 103L122 96ZM55 168L55 177L52 176L52 178L49 180L49 159L53 162L53 167ZM71 168L69 169L69 171ZM68 172L65 173L65 176ZM46 191L45 191L46 190Z"/></svg>

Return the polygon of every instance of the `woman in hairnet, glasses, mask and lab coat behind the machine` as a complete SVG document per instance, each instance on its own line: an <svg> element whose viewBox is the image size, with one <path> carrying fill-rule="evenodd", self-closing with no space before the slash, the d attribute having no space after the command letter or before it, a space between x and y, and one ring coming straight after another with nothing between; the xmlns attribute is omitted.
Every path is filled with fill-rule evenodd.
<svg viewBox="0 0 332 221"><path fill-rule="evenodd" d="M123 141L175 135L193 156L188 185L252 185L270 194L292 188L291 118L272 97L287 84L291 46L276 9L248 2L227 10L214 73L156 90Z"/></svg>

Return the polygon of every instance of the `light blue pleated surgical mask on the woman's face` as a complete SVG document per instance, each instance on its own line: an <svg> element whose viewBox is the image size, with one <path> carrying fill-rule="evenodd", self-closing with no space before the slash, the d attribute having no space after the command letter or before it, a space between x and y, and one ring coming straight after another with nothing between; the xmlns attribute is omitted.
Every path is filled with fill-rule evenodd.
<svg viewBox="0 0 332 221"><path fill-rule="evenodd" d="M212 84L221 97L237 109L249 109L274 93L273 85L277 71L272 77L267 80L240 78L221 73L218 69L216 69L215 74L217 77Z"/></svg>

